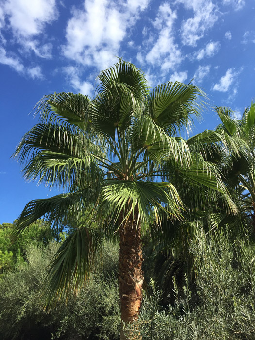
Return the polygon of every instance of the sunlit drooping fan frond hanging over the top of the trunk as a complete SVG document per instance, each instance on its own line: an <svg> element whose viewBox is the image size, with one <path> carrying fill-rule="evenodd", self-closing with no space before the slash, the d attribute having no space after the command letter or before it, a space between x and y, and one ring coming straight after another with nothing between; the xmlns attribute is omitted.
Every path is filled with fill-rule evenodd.
<svg viewBox="0 0 255 340"><path fill-rule="evenodd" d="M123 221L134 216L138 209L138 221L154 219L160 224L159 211L168 205L168 216L181 216L182 202L176 188L170 183L151 183L143 181L114 181L102 188L99 198L99 211L118 221L120 212L124 212ZM119 225L118 223L118 225ZM135 226L136 227L136 226Z"/></svg>

